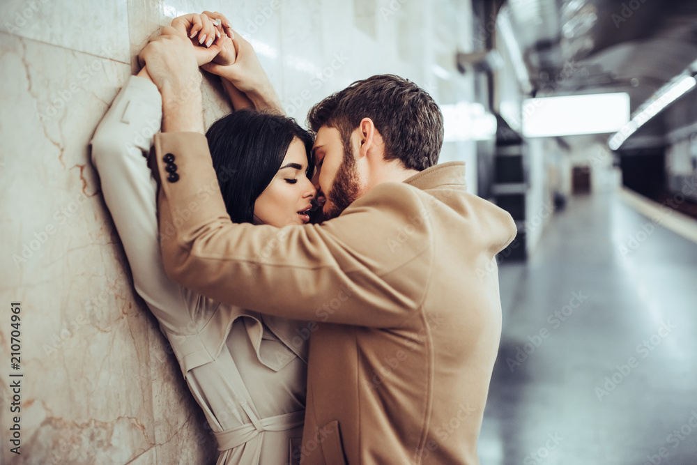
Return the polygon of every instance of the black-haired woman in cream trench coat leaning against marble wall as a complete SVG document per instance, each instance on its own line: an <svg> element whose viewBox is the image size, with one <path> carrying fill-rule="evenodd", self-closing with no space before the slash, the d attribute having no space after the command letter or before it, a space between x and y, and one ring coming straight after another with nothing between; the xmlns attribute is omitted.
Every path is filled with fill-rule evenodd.
<svg viewBox="0 0 697 465"><path fill-rule="evenodd" d="M198 20L198 31L210 37L213 22L217 39L226 38L220 20L198 16L185 17L190 31ZM226 87L233 105L250 105L243 93ZM158 239L168 237L158 238L158 185L146 160L161 117L160 93L141 72L118 93L91 140L92 162L135 289L157 317L206 414L220 450L217 464L293 463L305 416L307 323L218 303L167 278ZM295 121L234 112L215 122L206 137L233 222L283 227L309 220L316 195L307 177L312 137Z"/></svg>

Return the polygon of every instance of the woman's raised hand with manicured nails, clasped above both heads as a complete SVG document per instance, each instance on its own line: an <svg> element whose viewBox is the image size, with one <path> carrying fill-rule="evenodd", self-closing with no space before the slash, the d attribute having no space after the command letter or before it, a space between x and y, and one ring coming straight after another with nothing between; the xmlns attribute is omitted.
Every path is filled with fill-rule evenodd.
<svg viewBox="0 0 697 465"><path fill-rule="evenodd" d="M171 24L178 32L190 38L193 45L195 45L194 54L199 66L210 63L215 56L220 54L224 47L230 47L226 43L231 43L229 32L224 29L222 20L209 17L206 13L208 12L200 15L191 13L178 16L172 20ZM229 31L232 31L232 29L229 28ZM228 50L224 56L229 56Z"/></svg>

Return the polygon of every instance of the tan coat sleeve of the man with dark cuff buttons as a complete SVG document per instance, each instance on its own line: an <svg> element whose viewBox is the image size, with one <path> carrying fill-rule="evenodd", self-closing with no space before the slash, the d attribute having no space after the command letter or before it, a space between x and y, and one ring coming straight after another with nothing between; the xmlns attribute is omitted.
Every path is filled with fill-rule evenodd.
<svg viewBox="0 0 697 465"><path fill-rule="evenodd" d="M153 156L164 269L183 287L279 317L384 328L422 302L432 235L415 188L378 186L322 224L233 224L203 135L158 134Z"/></svg>

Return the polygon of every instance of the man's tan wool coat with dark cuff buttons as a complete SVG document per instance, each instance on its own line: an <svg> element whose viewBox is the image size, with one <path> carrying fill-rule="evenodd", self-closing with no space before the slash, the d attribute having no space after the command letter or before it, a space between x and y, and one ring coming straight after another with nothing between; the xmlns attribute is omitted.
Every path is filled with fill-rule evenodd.
<svg viewBox="0 0 697 465"><path fill-rule="evenodd" d="M301 463L478 463L501 329L494 257L516 227L466 192L464 163L378 185L322 224L277 229L231 223L203 135L156 135L154 156L167 275L318 321Z"/></svg>

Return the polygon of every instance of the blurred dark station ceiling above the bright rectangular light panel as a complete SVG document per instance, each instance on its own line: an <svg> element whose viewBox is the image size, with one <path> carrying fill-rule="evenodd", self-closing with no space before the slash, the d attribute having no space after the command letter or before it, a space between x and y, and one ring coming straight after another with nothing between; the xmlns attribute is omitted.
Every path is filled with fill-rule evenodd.
<svg viewBox="0 0 697 465"><path fill-rule="evenodd" d="M507 15L531 96L621 91L634 113L697 60L697 0L494 0L493 8Z"/></svg>

